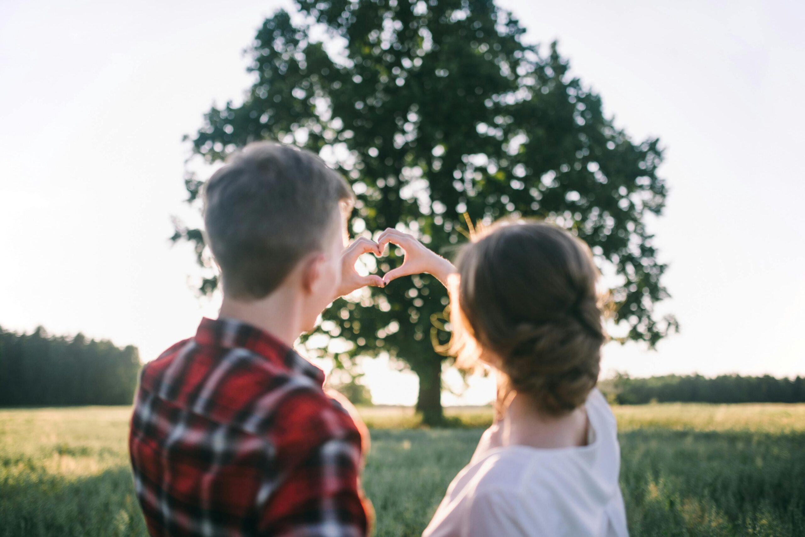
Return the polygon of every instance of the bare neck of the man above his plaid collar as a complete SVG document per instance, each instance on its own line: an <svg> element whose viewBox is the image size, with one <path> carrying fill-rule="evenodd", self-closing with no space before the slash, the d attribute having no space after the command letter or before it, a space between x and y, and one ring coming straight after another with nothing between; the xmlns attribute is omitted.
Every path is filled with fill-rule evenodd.
<svg viewBox="0 0 805 537"><path fill-rule="evenodd" d="M218 318L236 319L257 326L289 347L302 334L299 305L283 288L258 301L242 301L224 296Z"/></svg>

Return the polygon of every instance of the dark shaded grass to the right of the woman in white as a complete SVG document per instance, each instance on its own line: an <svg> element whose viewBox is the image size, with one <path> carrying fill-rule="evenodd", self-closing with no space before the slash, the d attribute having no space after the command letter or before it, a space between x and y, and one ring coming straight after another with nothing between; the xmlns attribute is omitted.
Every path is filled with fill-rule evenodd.
<svg viewBox="0 0 805 537"><path fill-rule="evenodd" d="M621 433L631 535L805 534L802 432Z"/></svg>

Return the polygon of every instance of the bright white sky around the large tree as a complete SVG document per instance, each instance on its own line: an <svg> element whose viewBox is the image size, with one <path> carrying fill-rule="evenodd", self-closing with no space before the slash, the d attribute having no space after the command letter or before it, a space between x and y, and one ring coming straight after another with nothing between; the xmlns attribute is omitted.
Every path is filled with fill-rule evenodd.
<svg viewBox="0 0 805 537"><path fill-rule="evenodd" d="M0 325L147 360L215 314L188 286L188 248L167 241L188 215L181 136L242 95L241 51L284 3L0 2ZM667 147L651 229L682 332L656 352L607 346L605 371L805 374L805 5L501 4L532 42L559 39L617 125ZM365 371L376 402L414 402L410 373ZM471 384L444 403L493 396Z"/></svg>

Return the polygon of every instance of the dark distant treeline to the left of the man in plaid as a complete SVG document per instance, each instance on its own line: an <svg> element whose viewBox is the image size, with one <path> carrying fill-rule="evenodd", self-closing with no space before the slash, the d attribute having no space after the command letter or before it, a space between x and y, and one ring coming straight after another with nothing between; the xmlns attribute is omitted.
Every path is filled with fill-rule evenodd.
<svg viewBox="0 0 805 537"><path fill-rule="evenodd" d="M131 404L139 369L135 346L0 327L0 406Z"/></svg>

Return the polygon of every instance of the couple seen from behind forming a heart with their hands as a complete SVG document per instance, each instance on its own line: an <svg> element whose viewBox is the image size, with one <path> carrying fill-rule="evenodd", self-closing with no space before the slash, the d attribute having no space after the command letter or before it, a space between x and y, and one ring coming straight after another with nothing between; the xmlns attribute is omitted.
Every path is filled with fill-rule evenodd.
<svg viewBox="0 0 805 537"><path fill-rule="evenodd" d="M209 179L221 314L143 368L131 420L151 535L368 535L365 426L293 344L337 297L415 273L448 286L459 363L498 377L498 419L423 535L627 535L615 420L595 388L605 336L587 246L511 222L455 266L394 229L344 248L352 206L344 178L278 144L246 146ZM357 257L386 244L403 265L358 275Z"/></svg>

